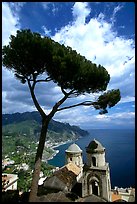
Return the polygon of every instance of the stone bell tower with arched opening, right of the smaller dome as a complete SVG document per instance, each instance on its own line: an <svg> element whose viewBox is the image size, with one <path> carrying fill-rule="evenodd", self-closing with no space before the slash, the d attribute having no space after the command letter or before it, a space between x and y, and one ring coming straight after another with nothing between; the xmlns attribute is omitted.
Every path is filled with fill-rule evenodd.
<svg viewBox="0 0 137 204"><path fill-rule="evenodd" d="M91 194L111 201L109 164L105 161L105 148L93 140L86 147L87 164L84 166L82 196Z"/></svg>

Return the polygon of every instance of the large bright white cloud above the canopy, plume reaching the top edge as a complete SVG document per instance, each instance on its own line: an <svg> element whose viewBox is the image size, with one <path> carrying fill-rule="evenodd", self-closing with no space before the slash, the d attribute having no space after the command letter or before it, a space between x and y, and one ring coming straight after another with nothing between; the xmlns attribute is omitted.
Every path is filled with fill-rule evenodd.
<svg viewBox="0 0 137 204"><path fill-rule="evenodd" d="M121 8L122 6L115 7L114 16ZM111 76L112 82L110 81L108 87L121 88L122 86L123 92L124 84L128 84L126 92L130 96L130 87L134 90L135 86L133 74L135 42L118 36L113 31L112 23L105 21L102 13L98 17L90 18L85 24L85 18L90 13L87 3L76 2L72 10L73 15L76 16L73 23L62 27L52 38L72 47L94 63L103 65ZM125 97L124 93L122 97Z"/></svg>

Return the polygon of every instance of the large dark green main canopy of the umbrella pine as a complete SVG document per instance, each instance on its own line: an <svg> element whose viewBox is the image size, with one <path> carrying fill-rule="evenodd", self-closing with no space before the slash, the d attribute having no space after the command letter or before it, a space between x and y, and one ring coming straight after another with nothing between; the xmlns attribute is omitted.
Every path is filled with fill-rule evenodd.
<svg viewBox="0 0 137 204"><path fill-rule="evenodd" d="M2 50L3 65L22 83L46 73L58 86L80 94L106 90L110 80L107 70L72 48L30 30L18 30L10 40Z"/></svg>

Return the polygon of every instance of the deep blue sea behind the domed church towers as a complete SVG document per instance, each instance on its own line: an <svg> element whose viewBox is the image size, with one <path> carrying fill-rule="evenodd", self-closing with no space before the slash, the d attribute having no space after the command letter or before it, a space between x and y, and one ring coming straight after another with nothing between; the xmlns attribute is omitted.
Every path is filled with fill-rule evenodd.
<svg viewBox="0 0 137 204"><path fill-rule="evenodd" d="M135 187L135 130L128 129L94 129L89 135L79 138L75 143L83 150L83 161L86 162L85 147L94 138L106 148L106 162L110 165L111 186ZM73 142L55 149L59 153L48 163L54 166L65 164L65 150Z"/></svg>

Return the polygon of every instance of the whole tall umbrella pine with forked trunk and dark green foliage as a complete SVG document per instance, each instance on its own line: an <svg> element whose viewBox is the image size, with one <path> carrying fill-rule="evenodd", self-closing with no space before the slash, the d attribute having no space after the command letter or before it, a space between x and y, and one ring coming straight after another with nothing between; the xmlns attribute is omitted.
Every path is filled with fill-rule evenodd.
<svg viewBox="0 0 137 204"><path fill-rule="evenodd" d="M31 30L18 30L16 36L10 36L9 45L3 46L2 49L2 62L7 69L14 72L21 83L28 84L35 107L42 118L29 198L29 201L36 201L41 159L51 118L56 112L77 106L93 106L100 110L100 114L105 114L108 108L120 100L120 91L106 91L110 75L103 66L97 66L71 47L60 45L48 37L41 37ZM46 76L44 79L42 74ZM49 81L60 87L63 97L55 103L50 113L46 114L36 98L35 87L38 83ZM61 106L68 98L85 93L101 95L96 101Z"/></svg>

